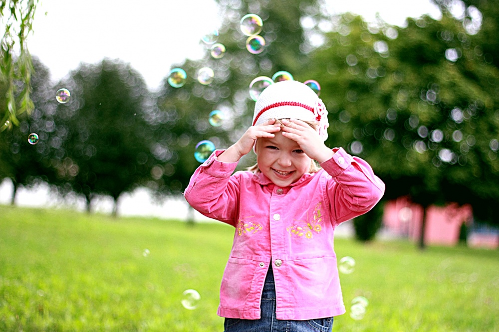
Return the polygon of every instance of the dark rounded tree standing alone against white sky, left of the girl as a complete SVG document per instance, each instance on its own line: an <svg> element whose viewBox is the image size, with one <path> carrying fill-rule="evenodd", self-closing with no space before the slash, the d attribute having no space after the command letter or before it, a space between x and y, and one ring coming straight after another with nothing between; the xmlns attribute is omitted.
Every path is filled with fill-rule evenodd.
<svg viewBox="0 0 499 332"><path fill-rule="evenodd" d="M146 85L128 64L104 59L81 64L61 87L71 94L67 104L57 105L57 187L83 194L88 211L95 195L109 195L116 215L120 194L145 183L154 164Z"/></svg>

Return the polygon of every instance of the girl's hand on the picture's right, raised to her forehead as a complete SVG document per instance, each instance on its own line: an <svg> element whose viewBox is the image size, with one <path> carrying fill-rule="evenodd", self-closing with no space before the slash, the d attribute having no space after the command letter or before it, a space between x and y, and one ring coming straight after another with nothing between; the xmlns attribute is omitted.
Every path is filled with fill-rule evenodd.
<svg viewBox="0 0 499 332"><path fill-rule="evenodd" d="M319 163L330 159L334 152L324 145L319 134L307 123L291 119L282 119L282 136L295 141L303 152Z"/></svg>

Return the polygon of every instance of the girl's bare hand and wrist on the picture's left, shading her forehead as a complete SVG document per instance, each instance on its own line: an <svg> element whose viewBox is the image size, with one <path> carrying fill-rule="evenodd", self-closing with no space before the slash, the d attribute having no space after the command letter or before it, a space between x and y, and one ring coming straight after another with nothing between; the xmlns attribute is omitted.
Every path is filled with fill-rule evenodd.
<svg viewBox="0 0 499 332"><path fill-rule="evenodd" d="M258 126L251 126L238 142L230 146L224 153L218 156L217 159L225 163L238 162L241 157L248 154L251 149L253 149L256 139L272 138L274 137L273 133L278 132L280 128L280 124L276 124L275 119L269 119Z"/></svg>

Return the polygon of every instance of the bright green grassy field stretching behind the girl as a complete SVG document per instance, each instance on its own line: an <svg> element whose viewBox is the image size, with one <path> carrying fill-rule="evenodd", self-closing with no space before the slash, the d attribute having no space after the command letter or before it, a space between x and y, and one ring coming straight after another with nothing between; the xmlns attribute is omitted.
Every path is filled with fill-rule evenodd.
<svg viewBox="0 0 499 332"><path fill-rule="evenodd" d="M0 331L223 331L234 229L0 206ZM333 331L499 331L499 251L337 238L347 313ZM147 250L146 250L147 249ZM201 299L185 309L183 292ZM350 303L369 300L365 316Z"/></svg>

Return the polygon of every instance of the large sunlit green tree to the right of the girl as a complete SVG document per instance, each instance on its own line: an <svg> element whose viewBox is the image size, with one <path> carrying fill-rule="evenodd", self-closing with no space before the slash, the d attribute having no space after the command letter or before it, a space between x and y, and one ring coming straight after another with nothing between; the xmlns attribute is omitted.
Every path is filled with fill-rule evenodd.
<svg viewBox="0 0 499 332"><path fill-rule="evenodd" d="M304 70L334 92L321 95L332 113L329 141L373 166L387 185L384 199L499 202L498 186L490 187L498 183L491 85L499 76L477 46L448 15L397 29L346 14L312 53Z"/></svg>

